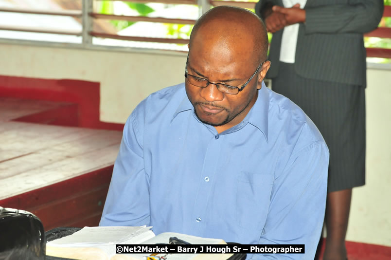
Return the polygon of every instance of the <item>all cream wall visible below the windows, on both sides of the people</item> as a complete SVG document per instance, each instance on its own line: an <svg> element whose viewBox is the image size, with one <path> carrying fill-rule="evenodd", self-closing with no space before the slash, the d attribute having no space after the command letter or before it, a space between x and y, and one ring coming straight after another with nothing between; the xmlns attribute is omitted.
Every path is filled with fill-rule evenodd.
<svg viewBox="0 0 391 260"><path fill-rule="evenodd" d="M0 74L101 83L100 117L124 123L149 93L184 80L186 54L0 43ZM367 185L355 188L347 240L391 246L391 71L368 70Z"/></svg>

